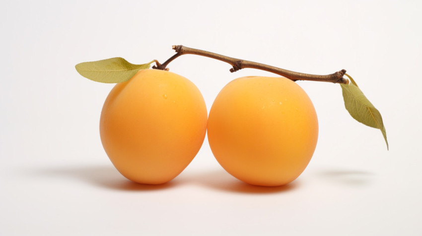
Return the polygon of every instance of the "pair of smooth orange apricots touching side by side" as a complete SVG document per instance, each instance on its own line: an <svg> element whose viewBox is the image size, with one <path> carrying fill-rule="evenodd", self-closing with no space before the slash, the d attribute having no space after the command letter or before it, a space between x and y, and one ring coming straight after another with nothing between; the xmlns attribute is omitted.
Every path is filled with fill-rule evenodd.
<svg viewBox="0 0 422 236"><path fill-rule="evenodd" d="M283 77L231 81L207 117L204 98L191 81L144 69L112 89L100 118L101 141L113 165L147 184L178 176L198 153L207 129L219 164L232 176L263 186L298 177L318 137L312 102Z"/></svg>

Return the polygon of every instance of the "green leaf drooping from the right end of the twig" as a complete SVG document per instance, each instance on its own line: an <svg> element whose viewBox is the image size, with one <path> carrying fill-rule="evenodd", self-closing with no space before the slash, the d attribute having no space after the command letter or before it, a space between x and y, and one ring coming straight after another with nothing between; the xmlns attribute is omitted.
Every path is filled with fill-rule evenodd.
<svg viewBox="0 0 422 236"><path fill-rule="evenodd" d="M343 98L345 100L346 110L350 113L352 118L357 121L368 125L370 127L378 128L384 136L385 143L387 144L387 133L385 131L384 123L379 111L372 105L371 102L363 95L362 91L357 87L356 82L346 74L352 81L350 84L340 84L343 90Z"/></svg>

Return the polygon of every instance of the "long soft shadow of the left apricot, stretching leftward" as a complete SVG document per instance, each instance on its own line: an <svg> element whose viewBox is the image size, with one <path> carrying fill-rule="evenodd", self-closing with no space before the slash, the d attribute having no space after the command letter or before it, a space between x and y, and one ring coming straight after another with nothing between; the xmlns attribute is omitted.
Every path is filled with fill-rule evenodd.
<svg viewBox="0 0 422 236"><path fill-rule="evenodd" d="M95 186L125 191L160 190L175 185L172 181L163 184L136 183L123 177L113 166L38 169L33 173L44 177L73 178Z"/></svg>

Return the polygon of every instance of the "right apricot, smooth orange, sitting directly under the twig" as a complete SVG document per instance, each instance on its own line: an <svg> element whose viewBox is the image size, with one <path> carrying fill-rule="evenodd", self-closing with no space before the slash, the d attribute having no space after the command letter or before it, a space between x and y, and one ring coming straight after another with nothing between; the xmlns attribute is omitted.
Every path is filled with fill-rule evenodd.
<svg viewBox="0 0 422 236"><path fill-rule="evenodd" d="M254 185L279 186L308 165L318 139L311 100L284 77L242 77L217 95L208 140L218 163Z"/></svg>

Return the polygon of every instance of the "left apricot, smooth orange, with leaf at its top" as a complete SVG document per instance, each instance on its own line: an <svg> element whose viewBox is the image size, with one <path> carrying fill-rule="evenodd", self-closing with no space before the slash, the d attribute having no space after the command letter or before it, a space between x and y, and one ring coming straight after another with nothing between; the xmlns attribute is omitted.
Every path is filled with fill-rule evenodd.
<svg viewBox="0 0 422 236"><path fill-rule="evenodd" d="M116 169L139 183L178 176L202 146L207 108L188 79L145 69L108 95L100 118L104 150Z"/></svg>

